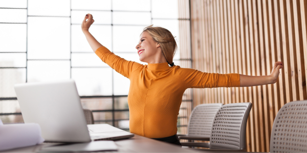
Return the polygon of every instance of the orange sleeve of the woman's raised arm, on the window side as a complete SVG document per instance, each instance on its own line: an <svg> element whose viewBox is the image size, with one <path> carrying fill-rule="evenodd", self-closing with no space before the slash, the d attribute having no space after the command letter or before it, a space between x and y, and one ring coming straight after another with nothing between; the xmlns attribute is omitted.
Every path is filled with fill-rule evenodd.
<svg viewBox="0 0 307 153"><path fill-rule="evenodd" d="M126 78L129 78L130 74L144 66L138 62L127 61L119 56L116 56L114 53L110 52L104 46L99 47L95 54L107 65L111 66L115 71L119 72L120 74L124 75Z"/></svg>

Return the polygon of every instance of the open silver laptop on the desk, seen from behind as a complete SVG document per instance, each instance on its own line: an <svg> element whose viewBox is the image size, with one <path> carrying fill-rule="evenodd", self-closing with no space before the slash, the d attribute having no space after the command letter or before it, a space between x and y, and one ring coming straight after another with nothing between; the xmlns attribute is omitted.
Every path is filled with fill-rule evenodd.
<svg viewBox="0 0 307 153"><path fill-rule="evenodd" d="M14 86L25 123L38 123L47 142L90 142L134 137L109 124L86 125L75 81Z"/></svg>

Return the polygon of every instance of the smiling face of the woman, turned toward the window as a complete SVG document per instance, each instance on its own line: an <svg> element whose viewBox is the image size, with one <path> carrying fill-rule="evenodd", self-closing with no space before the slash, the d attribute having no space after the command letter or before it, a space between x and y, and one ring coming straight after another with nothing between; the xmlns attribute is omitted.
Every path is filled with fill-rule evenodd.
<svg viewBox="0 0 307 153"><path fill-rule="evenodd" d="M153 40L148 32L143 32L140 36L139 44L136 46L140 61L152 63L161 54L158 52L159 47L160 44Z"/></svg>

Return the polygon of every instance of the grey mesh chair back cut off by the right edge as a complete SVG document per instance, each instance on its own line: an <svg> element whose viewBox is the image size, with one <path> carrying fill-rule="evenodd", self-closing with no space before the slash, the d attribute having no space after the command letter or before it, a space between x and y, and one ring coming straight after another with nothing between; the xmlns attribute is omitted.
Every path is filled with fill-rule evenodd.
<svg viewBox="0 0 307 153"><path fill-rule="evenodd" d="M287 103L278 111L270 152L307 152L307 100Z"/></svg>

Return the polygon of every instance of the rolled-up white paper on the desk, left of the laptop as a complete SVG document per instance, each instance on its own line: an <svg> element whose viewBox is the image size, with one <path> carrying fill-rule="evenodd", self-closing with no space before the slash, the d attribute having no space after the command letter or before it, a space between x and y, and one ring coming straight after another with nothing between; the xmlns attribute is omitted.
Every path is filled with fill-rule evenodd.
<svg viewBox="0 0 307 153"><path fill-rule="evenodd" d="M0 122L2 123L1 119ZM45 141L41 137L40 126L36 123L0 123L0 151L36 145Z"/></svg>

